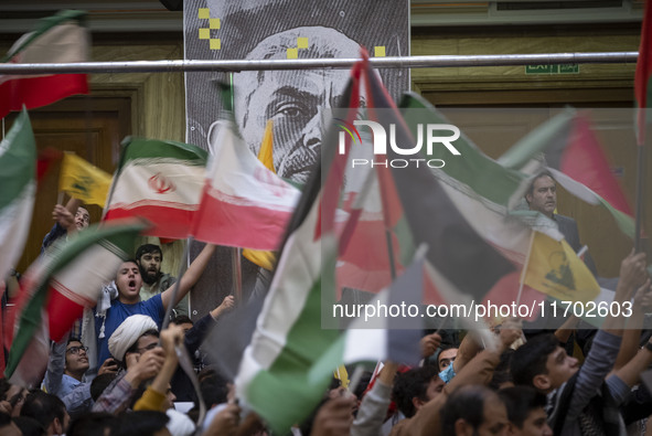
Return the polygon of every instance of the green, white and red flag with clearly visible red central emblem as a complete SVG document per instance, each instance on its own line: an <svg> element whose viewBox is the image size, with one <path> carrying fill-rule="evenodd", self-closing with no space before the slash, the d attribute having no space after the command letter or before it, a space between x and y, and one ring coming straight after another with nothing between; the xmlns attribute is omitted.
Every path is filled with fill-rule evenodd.
<svg viewBox="0 0 652 436"><path fill-rule="evenodd" d="M147 235L185 238L200 206L206 151L182 142L128 138L104 220L140 216Z"/></svg>

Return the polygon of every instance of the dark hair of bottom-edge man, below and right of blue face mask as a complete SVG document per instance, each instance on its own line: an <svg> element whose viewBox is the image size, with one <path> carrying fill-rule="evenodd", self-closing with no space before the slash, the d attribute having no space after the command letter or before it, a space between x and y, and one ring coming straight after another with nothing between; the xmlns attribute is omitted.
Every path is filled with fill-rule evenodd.
<svg viewBox="0 0 652 436"><path fill-rule="evenodd" d="M484 421L484 402L495 393L482 385L462 386L441 407L441 434L455 435L455 423L462 418L474 429Z"/></svg>

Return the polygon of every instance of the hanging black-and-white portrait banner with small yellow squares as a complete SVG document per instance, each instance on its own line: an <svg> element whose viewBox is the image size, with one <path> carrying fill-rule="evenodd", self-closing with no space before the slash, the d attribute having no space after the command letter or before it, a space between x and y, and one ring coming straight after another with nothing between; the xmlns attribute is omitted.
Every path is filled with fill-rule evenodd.
<svg viewBox="0 0 652 436"><path fill-rule="evenodd" d="M408 0L186 0L183 9L186 60L359 59L361 46L371 57L409 55ZM394 98L409 89L408 70L378 73ZM272 170L304 183L319 158L327 115L341 103L349 74L329 68L185 73L186 142L211 150L212 126L224 117L225 106L217 83L231 84L233 102L226 103L246 146L258 156L271 121ZM224 253L220 270L209 272L206 293L202 283L195 286L196 316L213 308L213 274L218 294L229 291L229 257ZM252 265L243 263L245 294L260 281Z"/></svg>

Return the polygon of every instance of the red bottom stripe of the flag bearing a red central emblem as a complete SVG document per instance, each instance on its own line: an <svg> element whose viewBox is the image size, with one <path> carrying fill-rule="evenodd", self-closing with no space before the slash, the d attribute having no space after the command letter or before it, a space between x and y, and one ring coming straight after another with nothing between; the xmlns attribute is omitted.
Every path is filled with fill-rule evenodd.
<svg viewBox="0 0 652 436"><path fill-rule="evenodd" d="M188 228L196 211L177 209L173 206L142 205L130 209L114 208L106 213L105 221L124 217L142 217L148 220L152 227L143 232L143 235L184 240Z"/></svg>

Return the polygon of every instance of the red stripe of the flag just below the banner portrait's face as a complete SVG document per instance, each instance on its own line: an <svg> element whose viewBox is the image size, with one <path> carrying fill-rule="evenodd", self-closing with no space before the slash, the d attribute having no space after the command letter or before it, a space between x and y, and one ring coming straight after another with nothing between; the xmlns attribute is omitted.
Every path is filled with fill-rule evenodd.
<svg viewBox="0 0 652 436"><path fill-rule="evenodd" d="M292 211L233 204L210 193L204 195L201 211L203 216L210 217L210 223L194 226L196 240L252 249L277 249L278 235L284 234L292 216Z"/></svg>

